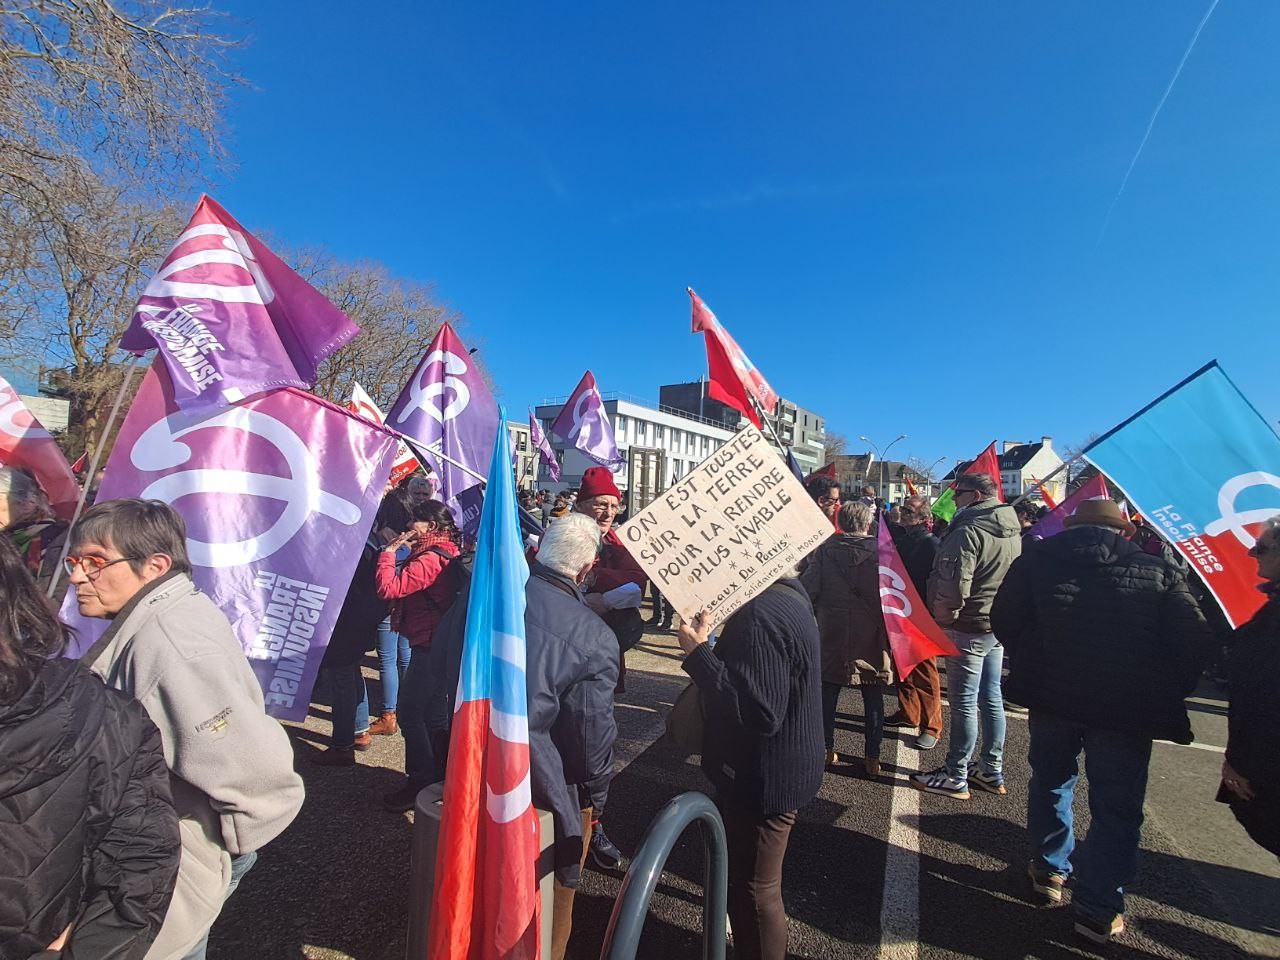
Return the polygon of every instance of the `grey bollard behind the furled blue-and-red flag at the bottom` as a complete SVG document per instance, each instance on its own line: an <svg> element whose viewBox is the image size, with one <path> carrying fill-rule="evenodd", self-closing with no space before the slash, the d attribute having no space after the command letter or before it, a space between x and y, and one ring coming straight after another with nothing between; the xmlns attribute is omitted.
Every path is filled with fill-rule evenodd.
<svg viewBox="0 0 1280 960"><path fill-rule="evenodd" d="M406 960L428 960L426 945L431 924L431 896L435 892L435 851L440 837L440 813L444 809L444 783L431 783L417 795L413 806L413 836L408 867L408 932L404 938ZM552 845L556 829L548 810L538 810L538 893L541 897L539 956L552 955Z"/></svg>

